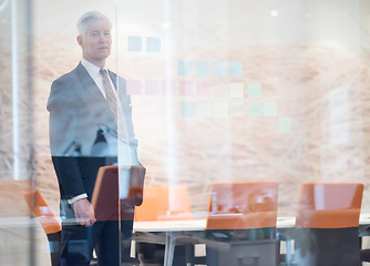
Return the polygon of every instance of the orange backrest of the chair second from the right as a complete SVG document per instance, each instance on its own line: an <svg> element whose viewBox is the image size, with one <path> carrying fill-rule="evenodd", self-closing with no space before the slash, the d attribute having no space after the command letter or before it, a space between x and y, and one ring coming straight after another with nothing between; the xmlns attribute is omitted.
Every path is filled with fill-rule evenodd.
<svg viewBox="0 0 370 266"><path fill-rule="evenodd" d="M276 227L278 183L247 181L214 183L206 229Z"/></svg>

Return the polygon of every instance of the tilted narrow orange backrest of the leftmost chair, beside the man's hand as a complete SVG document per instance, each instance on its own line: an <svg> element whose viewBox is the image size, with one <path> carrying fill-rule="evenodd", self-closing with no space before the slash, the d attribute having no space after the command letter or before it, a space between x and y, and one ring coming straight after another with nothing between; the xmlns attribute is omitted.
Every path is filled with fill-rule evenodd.
<svg viewBox="0 0 370 266"><path fill-rule="evenodd" d="M47 235L58 233L62 229L61 223L39 191L27 192L23 196L34 216L39 217L40 224Z"/></svg>

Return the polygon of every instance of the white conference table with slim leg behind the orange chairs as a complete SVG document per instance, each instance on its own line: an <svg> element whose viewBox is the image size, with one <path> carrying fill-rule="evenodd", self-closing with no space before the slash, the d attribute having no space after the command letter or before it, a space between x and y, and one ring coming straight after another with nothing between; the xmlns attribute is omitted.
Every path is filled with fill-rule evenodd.
<svg viewBox="0 0 370 266"><path fill-rule="evenodd" d="M276 228L279 233L295 228L294 216L279 216ZM164 265L171 266L174 257L174 248L177 239L183 243L205 243L202 238L206 228L206 216L193 219L135 222L133 239L137 242L158 243L165 245ZM370 235L370 213L361 214L359 222L359 236ZM197 242L197 239L199 239Z"/></svg>

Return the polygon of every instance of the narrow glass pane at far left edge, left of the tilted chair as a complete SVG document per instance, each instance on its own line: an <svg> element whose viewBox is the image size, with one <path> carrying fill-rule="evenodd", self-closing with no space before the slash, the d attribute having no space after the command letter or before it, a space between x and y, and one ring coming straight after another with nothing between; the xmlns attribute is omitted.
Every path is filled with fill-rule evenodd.
<svg viewBox="0 0 370 266"><path fill-rule="evenodd" d="M33 28L29 1L0 1L0 257L34 265L39 241L23 194L34 181Z"/></svg>

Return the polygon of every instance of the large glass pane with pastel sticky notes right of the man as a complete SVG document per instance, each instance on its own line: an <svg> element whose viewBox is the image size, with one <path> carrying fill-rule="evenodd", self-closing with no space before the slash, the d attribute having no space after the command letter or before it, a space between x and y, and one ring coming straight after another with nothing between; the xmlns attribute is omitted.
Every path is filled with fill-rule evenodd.
<svg viewBox="0 0 370 266"><path fill-rule="evenodd" d="M295 215L302 181L366 182L368 8L120 1L146 184L186 185L202 212L213 182L274 180Z"/></svg>

